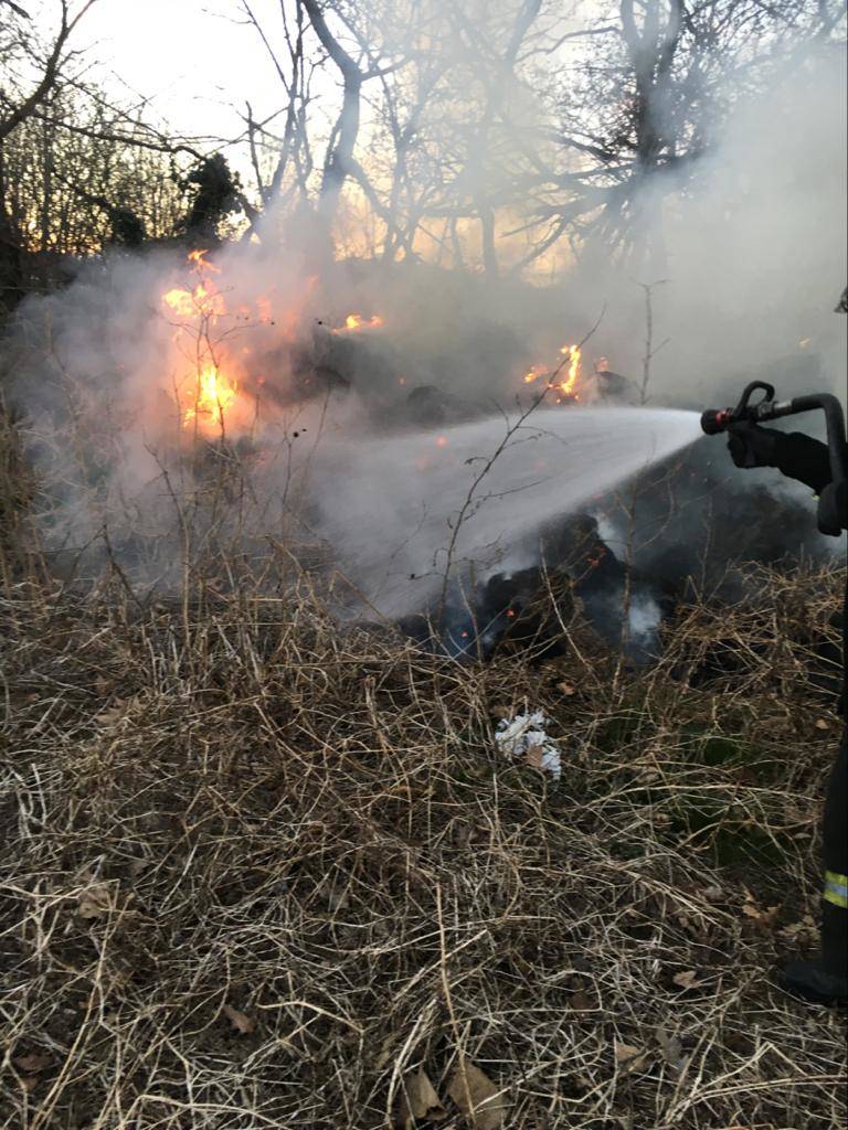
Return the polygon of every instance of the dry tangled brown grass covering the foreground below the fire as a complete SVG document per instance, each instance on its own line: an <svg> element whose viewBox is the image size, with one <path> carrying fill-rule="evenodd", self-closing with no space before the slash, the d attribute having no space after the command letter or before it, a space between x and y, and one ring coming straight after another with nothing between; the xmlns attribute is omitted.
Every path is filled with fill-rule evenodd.
<svg viewBox="0 0 848 1130"><path fill-rule="evenodd" d="M579 624L459 667L305 580L9 577L3 1128L390 1127L419 1067L460 1127L460 1062L521 1130L845 1123L841 1018L773 984L815 945L839 575L692 608L641 672ZM493 748L528 706L560 783Z"/></svg>

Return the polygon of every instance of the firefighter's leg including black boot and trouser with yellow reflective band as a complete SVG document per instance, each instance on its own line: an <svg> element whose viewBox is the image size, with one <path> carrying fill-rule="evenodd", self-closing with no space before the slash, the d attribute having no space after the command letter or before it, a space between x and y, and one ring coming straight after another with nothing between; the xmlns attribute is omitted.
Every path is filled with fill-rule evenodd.
<svg viewBox="0 0 848 1130"><path fill-rule="evenodd" d="M822 949L816 962L794 962L786 988L816 1001L848 1000L848 739L831 770L824 800Z"/></svg>

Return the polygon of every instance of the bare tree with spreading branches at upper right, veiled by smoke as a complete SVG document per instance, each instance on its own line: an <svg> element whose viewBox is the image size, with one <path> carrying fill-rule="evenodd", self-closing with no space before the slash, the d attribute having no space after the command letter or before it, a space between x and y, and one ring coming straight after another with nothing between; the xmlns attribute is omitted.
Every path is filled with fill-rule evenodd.
<svg viewBox="0 0 848 1130"><path fill-rule="evenodd" d="M687 191L736 99L834 35L845 0L617 0L576 33L587 44L536 146L528 225L596 242L637 273L663 273L661 208ZM574 77L576 75L576 77Z"/></svg>

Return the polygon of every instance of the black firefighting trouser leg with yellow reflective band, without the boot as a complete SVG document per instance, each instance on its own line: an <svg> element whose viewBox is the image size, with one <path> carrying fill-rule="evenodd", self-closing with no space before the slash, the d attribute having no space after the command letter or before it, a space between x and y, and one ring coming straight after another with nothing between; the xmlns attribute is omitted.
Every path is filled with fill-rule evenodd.
<svg viewBox="0 0 848 1130"><path fill-rule="evenodd" d="M842 733L824 799L824 898L822 903L822 965L838 977L848 976L848 732Z"/></svg>

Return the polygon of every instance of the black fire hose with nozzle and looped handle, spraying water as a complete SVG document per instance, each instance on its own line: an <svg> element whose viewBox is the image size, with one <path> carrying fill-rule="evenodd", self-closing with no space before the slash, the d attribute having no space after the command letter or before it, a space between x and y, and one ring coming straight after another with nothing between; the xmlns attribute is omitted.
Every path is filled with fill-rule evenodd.
<svg viewBox="0 0 848 1130"><path fill-rule="evenodd" d="M751 403L752 394L758 391L762 391L762 399ZM848 467L846 467L845 415L842 406L834 395L830 392L817 392L807 397L793 397L791 400L775 400L775 389L771 384L752 381L735 408L710 408L703 412L701 427L707 435L718 435L720 432L726 432L732 424L741 421L762 424L765 420L779 419L781 416L808 412L815 408L821 408L824 412L831 473L830 483L819 495L819 529L822 533L838 538L845 521L845 515L841 513L843 503L840 503L840 499L845 498Z"/></svg>

